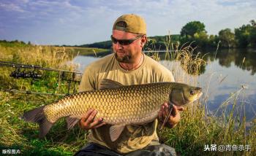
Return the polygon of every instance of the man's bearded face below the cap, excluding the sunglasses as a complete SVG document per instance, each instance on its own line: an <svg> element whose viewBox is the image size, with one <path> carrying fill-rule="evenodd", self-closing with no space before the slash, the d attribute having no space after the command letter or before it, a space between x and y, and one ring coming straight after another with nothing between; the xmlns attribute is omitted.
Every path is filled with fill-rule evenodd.
<svg viewBox="0 0 256 156"><path fill-rule="evenodd" d="M129 32L113 30L113 39L135 39L138 34L132 34ZM140 57L140 52L143 47L142 37L138 37L131 44L120 44L119 42L113 42L113 50L116 55L116 59L121 63L134 63L135 58Z"/></svg>

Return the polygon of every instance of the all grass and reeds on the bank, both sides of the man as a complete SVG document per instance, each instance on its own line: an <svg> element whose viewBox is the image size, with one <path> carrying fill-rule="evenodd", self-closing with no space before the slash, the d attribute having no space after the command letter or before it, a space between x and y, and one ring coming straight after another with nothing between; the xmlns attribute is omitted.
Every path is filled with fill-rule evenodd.
<svg viewBox="0 0 256 156"><path fill-rule="evenodd" d="M166 42L165 58L172 60L171 64L161 61L175 76L176 82L197 85L197 75L203 69L201 55L194 54L195 49L189 45ZM172 51L172 52L170 52ZM0 47L1 61L34 64L54 69L75 70L76 65L66 66L64 62L72 59L72 50L63 47ZM153 53L152 58L159 60L159 53ZM46 73L42 82L31 79L12 79L10 69L1 68L0 89L15 87L19 90L34 90L40 92L67 93L67 83L59 82L59 74ZM46 87L45 87L46 86ZM222 104L220 116L208 114L204 102L195 102L181 113L181 122L176 128L159 131L160 141L176 149L180 155L254 155L256 153L256 123L246 130L246 117L236 117L234 114L237 97L243 88L230 95ZM23 112L38 106L50 104L59 96L24 95L19 93L0 92L0 149L20 149L23 155L73 155L86 144L86 131L75 127L67 130L66 123L61 120L53 126L45 139L38 139L38 125L23 122L19 117ZM203 97L207 101L207 95ZM227 109L226 106L230 106ZM239 119L239 120L238 120ZM250 145L249 152L204 152L206 145Z"/></svg>

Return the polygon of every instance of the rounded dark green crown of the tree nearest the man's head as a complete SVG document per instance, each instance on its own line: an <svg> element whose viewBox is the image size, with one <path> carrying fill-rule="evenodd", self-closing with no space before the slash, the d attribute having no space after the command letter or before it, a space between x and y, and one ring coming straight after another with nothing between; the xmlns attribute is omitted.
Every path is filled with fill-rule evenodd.
<svg viewBox="0 0 256 156"><path fill-rule="evenodd" d="M205 25L200 23L200 21L192 21L187 23L184 27L181 28L181 36L194 37L194 34L200 34L201 32L206 33Z"/></svg>

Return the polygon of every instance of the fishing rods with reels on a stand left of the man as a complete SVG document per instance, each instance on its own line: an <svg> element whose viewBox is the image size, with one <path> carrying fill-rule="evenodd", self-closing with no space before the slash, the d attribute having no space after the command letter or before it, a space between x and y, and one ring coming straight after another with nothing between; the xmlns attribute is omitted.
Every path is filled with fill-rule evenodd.
<svg viewBox="0 0 256 156"><path fill-rule="evenodd" d="M82 76L82 73L79 71L67 71L62 69L50 69L50 68L44 68L41 66L34 66L34 65L28 65L28 64L21 64L21 63L12 63L7 61L0 61L0 67L6 66L14 68L15 71L12 71L10 74L10 77L14 77L15 79L24 79L24 78L32 78L31 79L31 85L33 84L34 80L36 79L42 79L42 72L41 71L55 71L59 72L59 80L67 81L68 83L68 93L71 87L71 84L74 83L80 83L80 78ZM27 71L27 69L31 69ZM12 91L13 92L13 91ZM18 93L17 90L14 91L15 93ZM20 93L23 91L20 91ZM35 93L32 91L25 91L26 93L33 93L33 94L45 94L45 95L53 95L52 93ZM75 87L73 90L73 93L75 93Z"/></svg>

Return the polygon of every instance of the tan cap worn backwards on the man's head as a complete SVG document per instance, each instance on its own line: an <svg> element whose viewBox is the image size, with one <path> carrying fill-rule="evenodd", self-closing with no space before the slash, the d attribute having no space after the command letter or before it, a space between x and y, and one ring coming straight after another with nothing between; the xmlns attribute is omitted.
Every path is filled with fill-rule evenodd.
<svg viewBox="0 0 256 156"><path fill-rule="evenodd" d="M113 30L126 31L135 34L146 34L146 23L143 17L135 14L121 15L116 19Z"/></svg>

